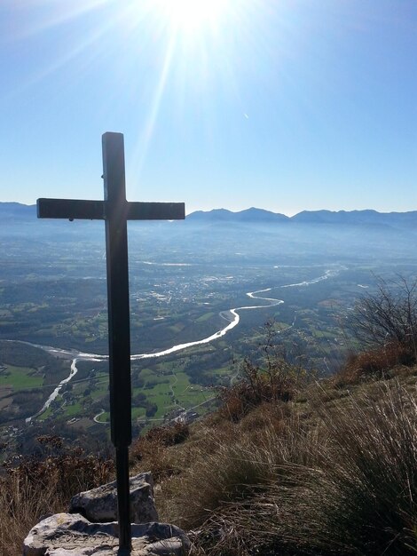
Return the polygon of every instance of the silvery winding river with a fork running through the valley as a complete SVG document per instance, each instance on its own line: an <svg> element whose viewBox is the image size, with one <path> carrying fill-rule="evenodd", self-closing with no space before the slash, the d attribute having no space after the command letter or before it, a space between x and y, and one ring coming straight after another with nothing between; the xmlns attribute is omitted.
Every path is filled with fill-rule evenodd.
<svg viewBox="0 0 417 556"><path fill-rule="evenodd" d="M228 311L222 311L220 313L220 315L228 322L228 324L226 324L226 326L224 326L224 328L222 328L221 330L217 330L211 336L209 336L207 338L202 338L201 340L195 340L193 342L187 342L185 344L178 344L177 346L169 347L167 349L161 350L160 352L135 353L135 354L131 355L131 360L132 361L138 361L138 360L141 360L141 359L153 359L155 357L163 357L164 355L169 355L169 353L180 352L182 350L187 349L188 347L200 346L201 344L209 344L210 342L213 342L213 341L217 340L218 338L222 338L223 336L225 336L225 334L227 334L227 332L229 332L230 330L232 330L236 326L238 326L238 324L240 322L240 315L238 313L239 311L248 311L248 310L252 310L252 309L264 309L266 307L278 306L281 303L284 303L283 299L266 298L266 297L260 296L258 294L263 294L265 292L268 292L268 291L271 291L271 290L276 290L276 289L279 289L279 288L294 288L294 287L310 286L311 284L315 284L315 283L321 282L323 280L327 280L328 278L331 278L333 276L336 276L337 274L339 274L344 269L346 269L345 266L334 266L334 268L328 269L325 272L325 274L321 274L317 278L313 278L310 281L285 284L283 286L275 286L273 288L266 288L265 290L249 291L246 294L248 296L248 298L260 299L264 302L264 304L263 305L251 305L251 306L234 307L233 309L229 309ZM48 409L50 407L52 401L54 401L57 398L57 396L59 395L59 392L60 392L62 386L66 385L73 377L75 377L75 375L77 373L77 370L78 370L77 367L76 367L77 361L106 361L106 359L108 359L108 355L100 355L98 353L77 352L76 350L60 349L60 348L52 347L52 346L42 346L40 344L31 344L30 342L22 342L22 343L28 344L29 346L38 347L40 349L43 349L43 351L51 353L52 355L55 355L55 356L58 356L58 357L71 359L71 369L70 369L69 376L67 378L64 378L64 380L61 380L61 382L59 383L59 385L56 386L56 388L51 393L49 398L44 402L43 407L39 411L37 411L35 413L35 415L33 415L32 417L28 417L26 419L27 423L30 423L30 421L32 421L32 419L41 415L45 409Z"/></svg>

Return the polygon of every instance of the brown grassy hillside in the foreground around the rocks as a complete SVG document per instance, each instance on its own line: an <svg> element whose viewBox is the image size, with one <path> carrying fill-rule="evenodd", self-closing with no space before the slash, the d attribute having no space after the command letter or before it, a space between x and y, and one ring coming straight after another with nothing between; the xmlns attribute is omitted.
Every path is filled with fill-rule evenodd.
<svg viewBox="0 0 417 556"><path fill-rule="evenodd" d="M160 519L187 530L194 556L414 554L417 367L305 382L273 365L271 380L249 363L204 421L134 442L130 473L152 471ZM3 556L45 512L114 476L112 458L38 440L42 454L0 478Z"/></svg>

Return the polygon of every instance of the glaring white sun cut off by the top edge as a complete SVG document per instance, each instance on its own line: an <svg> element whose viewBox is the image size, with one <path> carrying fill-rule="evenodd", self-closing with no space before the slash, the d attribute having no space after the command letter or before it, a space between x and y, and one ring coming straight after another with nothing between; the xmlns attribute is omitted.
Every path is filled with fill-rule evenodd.
<svg viewBox="0 0 417 556"><path fill-rule="evenodd" d="M216 26L228 11L231 0L154 0L155 7L170 25L183 32Z"/></svg>

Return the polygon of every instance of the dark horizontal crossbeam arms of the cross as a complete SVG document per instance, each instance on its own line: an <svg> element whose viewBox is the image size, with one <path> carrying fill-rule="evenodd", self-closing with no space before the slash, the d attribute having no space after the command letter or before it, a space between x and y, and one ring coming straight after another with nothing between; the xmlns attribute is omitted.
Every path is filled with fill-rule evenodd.
<svg viewBox="0 0 417 556"><path fill-rule="evenodd" d="M106 220L106 201L78 199L38 199L37 218L67 218L68 220ZM129 203L127 220L184 220L185 203Z"/></svg>

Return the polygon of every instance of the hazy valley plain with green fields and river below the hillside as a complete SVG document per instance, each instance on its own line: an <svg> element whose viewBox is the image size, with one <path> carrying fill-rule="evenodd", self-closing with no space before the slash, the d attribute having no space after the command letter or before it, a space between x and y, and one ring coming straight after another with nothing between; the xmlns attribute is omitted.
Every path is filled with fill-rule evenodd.
<svg viewBox="0 0 417 556"><path fill-rule="evenodd" d="M85 436L86 443L108 440L102 230L43 224L0 228L0 430L7 452L19 444L30 449L45 430ZM239 376L239 361L258 356L265 322L290 361L328 375L355 348L355 301L378 276L415 272L408 245L387 250L389 238L380 246L372 234L358 249L350 231L350 248L345 237L336 250L337 238L314 241L282 227L252 226L243 234L242 227L171 226L130 230L135 434L213 409L217 389Z"/></svg>

